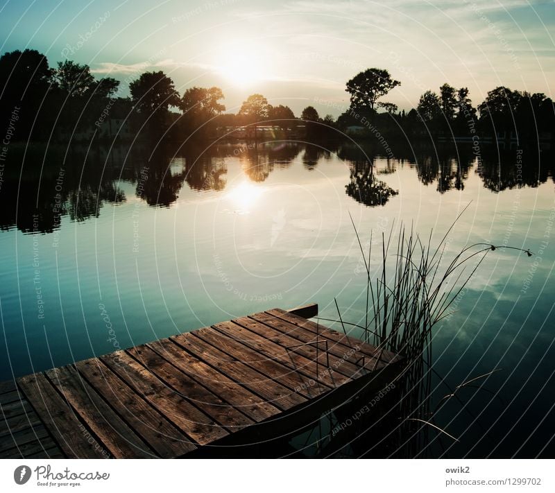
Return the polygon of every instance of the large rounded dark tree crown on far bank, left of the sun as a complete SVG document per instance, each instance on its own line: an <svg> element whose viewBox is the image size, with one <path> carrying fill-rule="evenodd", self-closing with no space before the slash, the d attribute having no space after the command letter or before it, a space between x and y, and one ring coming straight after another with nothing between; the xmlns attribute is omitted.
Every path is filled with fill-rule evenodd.
<svg viewBox="0 0 555 493"><path fill-rule="evenodd" d="M181 100L173 80L164 72L145 72L129 85L131 99L139 113L165 114L170 106L179 107Z"/></svg>

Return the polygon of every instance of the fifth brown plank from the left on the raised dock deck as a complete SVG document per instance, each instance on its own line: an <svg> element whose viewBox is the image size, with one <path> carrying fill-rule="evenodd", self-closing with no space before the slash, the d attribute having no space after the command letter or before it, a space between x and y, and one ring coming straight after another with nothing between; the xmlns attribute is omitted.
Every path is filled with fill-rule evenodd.
<svg viewBox="0 0 555 493"><path fill-rule="evenodd" d="M157 346L156 343L154 343L153 347L155 346ZM218 395L200 386L197 381L194 381L187 374L173 366L161 354L155 352L152 347L148 347L148 345L134 347L129 349L128 352L131 356L137 358L148 370L151 370L159 379L164 381L164 383L171 386L176 392L189 399L189 401L194 402L195 406L198 406L203 413L211 416L214 421L225 426L230 431L236 431L254 423L253 420L241 413L239 409L234 408ZM182 354L183 356L185 354Z"/></svg>

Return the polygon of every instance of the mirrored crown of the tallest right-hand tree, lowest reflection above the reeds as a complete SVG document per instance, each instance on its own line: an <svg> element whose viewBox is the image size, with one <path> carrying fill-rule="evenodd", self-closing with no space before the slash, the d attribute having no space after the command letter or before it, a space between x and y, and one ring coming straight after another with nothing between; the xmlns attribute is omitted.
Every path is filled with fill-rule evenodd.
<svg viewBox="0 0 555 493"><path fill-rule="evenodd" d="M391 196L399 193L375 178L373 166L369 162L351 166L350 182L345 186L345 191L348 196L369 207L385 205Z"/></svg>

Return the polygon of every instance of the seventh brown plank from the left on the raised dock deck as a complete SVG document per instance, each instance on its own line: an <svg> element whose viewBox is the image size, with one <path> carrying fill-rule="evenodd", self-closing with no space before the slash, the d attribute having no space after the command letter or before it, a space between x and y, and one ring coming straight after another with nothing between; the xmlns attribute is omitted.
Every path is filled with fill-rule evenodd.
<svg viewBox="0 0 555 493"><path fill-rule="evenodd" d="M218 333L214 331L214 334ZM287 386L282 385L280 379L271 379L267 375L258 372L237 359L230 361L230 356L228 354L221 352L213 345L210 345L205 342L205 340L191 333L172 337L170 341L178 345L179 348L184 348L191 352L195 360L199 363L204 362L207 365L216 367L221 374L227 375L230 379L239 383L239 385L244 386L254 394L259 395L262 399L265 399L267 402L270 402L282 410L287 410L307 401L307 399L302 397L298 392L292 392ZM164 346L165 345L166 343L164 341ZM191 368L192 372L195 371L196 365L187 364L186 366ZM276 366L280 372L289 371L286 367L280 365ZM295 384L298 385L298 383ZM210 382L210 385L218 386L219 382L214 379L214 381Z"/></svg>

